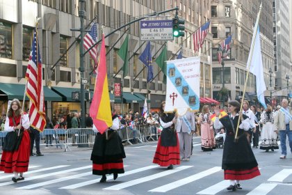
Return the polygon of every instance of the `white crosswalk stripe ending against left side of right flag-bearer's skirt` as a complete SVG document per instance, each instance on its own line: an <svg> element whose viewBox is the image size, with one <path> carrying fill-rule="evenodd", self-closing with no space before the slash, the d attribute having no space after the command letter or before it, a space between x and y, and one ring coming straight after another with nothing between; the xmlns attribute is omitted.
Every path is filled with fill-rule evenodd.
<svg viewBox="0 0 292 195"><path fill-rule="evenodd" d="M218 171L221 171L221 167L220 166L216 166L216 167L213 167L211 169L208 169L206 171L202 171L200 173L197 173L193 176L189 176L187 178L184 178L182 180L177 180L175 182L171 182L167 185L163 185L161 187L157 187L155 189L151 189L149 190L149 192L168 192L170 191L171 189L175 189L177 187L181 187L182 185L186 185L190 182L193 182L195 180L200 180L201 178L204 178L206 176L209 176L211 175L212 173L216 173Z"/></svg>

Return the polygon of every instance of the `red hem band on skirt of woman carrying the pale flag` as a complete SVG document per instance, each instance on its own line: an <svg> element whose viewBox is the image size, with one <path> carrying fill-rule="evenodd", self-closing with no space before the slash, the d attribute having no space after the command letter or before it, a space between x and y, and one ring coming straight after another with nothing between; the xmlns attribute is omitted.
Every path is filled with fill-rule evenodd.
<svg viewBox="0 0 292 195"><path fill-rule="evenodd" d="M225 180L250 180L260 175L257 166L252 169L224 170Z"/></svg>

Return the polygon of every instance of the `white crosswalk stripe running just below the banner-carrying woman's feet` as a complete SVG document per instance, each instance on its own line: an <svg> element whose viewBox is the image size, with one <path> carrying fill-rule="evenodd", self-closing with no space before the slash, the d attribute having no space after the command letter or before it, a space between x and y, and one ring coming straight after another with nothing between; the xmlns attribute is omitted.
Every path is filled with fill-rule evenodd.
<svg viewBox="0 0 292 195"><path fill-rule="evenodd" d="M111 190L120 190L120 189L124 189L126 187L130 187L130 186L133 186L133 185L138 185L140 183L143 183L143 182L148 182L150 180L155 180L155 179L158 179L158 178L162 178L164 176L168 176L172 173L177 173L179 171L182 171L184 169L188 169L190 167L193 167L193 166L179 166L175 169L172 169L172 170L168 170L168 171L163 171L161 173L156 173L152 176L146 176L144 178L139 178L139 179L136 179L136 180L131 180L129 182L124 182L124 183L121 183L121 184L118 184L118 185L113 185L111 187L106 187L104 189L111 189Z"/></svg>

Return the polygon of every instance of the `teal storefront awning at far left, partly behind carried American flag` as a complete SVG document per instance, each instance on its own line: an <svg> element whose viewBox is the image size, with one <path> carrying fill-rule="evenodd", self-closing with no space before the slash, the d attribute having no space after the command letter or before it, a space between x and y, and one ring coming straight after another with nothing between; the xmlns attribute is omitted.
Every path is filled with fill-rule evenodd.
<svg viewBox="0 0 292 195"><path fill-rule="evenodd" d="M23 100L24 98L24 84L0 84L1 96L6 96L6 100L13 100L17 98L19 100ZM28 98L26 98L28 100ZM62 97L51 91L47 86L44 86L44 100L45 101L62 101Z"/></svg>

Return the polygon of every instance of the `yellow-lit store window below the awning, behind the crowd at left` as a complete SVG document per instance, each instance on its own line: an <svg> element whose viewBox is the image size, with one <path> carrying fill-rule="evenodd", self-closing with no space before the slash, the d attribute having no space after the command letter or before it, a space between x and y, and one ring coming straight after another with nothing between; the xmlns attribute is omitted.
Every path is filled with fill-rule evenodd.
<svg viewBox="0 0 292 195"><path fill-rule="evenodd" d="M52 102L54 116L66 116L69 112L79 113L81 111L79 102Z"/></svg>

